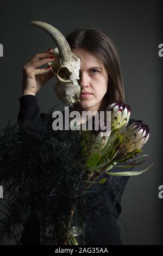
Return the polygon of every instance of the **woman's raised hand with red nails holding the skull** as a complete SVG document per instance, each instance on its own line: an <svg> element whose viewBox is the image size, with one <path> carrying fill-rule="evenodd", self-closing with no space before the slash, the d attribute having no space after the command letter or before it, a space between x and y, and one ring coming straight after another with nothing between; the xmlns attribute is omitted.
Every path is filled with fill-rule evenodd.
<svg viewBox="0 0 163 256"><path fill-rule="evenodd" d="M22 96L27 94L35 96L43 85L54 76L51 66L44 69L39 68L55 59L54 53L51 51L52 48L43 53L37 53L29 62L23 65Z"/></svg>

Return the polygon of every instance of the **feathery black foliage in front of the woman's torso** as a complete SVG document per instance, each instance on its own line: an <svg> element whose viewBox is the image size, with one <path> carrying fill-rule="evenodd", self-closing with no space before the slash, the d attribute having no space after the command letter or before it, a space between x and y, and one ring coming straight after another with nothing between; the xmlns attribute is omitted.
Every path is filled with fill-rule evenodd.
<svg viewBox="0 0 163 256"><path fill-rule="evenodd" d="M13 238L20 244L22 230L31 219L39 220L41 243L56 244L62 222L68 223L74 205L78 209L74 216L81 220L101 207L97 200L101 192L85 189L80 132L53 131L51 117L51 113L42 116L41 129L33 121L21 121L9 122L1 132L2 244ZM48 227L53 227L52 235L47 234Z"/></svg>

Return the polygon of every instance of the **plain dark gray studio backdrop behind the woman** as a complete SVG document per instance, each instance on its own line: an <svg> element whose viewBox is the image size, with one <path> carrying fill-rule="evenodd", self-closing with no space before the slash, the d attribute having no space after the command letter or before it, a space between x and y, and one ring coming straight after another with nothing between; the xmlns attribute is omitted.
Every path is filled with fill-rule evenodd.
<svg viewBox="0 0 163 256"><path fill-rule="evenodd" d="M0 3L1 125L16 122L22 93L22 65L36 53L55 47L53 40L31 21L50 23L65 36L77 28L103 30L120 54L126 103L131 117L149 125L151 136L143 153L155 165L141 176L131 177L122 197L122 241L126 245L163 244L163 184L161 161L161 82L163 57L158 56L161 38L161 1L8 1ZM36 95L40 112L60 103L53 92L55 78ZM62 103L58 109L64 109ZM11 243L11 242L10 242Z"/></svg>

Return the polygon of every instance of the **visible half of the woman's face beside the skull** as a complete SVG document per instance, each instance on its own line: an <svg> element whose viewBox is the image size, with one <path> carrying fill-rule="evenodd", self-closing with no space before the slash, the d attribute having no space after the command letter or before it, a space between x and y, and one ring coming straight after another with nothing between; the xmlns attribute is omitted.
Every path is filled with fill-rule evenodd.
<svg viewBox="0 0 163 256"><path fill-rule="evenodd" d="M84 111L98 111L108 88L107 71L96 57L82 48L74 48L72 52L81 61L80 80L78 80L81 94L91 93L85 96L80 95L80 102L76 104L76 108L79 106Z"/></svg>

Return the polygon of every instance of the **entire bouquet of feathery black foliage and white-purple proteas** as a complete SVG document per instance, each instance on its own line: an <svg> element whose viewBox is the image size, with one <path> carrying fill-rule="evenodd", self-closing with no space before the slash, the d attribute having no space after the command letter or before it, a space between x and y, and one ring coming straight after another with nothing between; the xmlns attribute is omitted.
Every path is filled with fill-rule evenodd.
<svg viewBox="0 0 163 256"><path fill-rule="evenodd" d="M43 128L33 123L8 125L0 139L0 184L4 199L0 210L0 240L15 238L20 243L22 227L31 216L39 219L42 244L77 245L71 223L78 208L84 218L83 202L91 201L97 192L89 191L102 173L109 176L139 175L141 171L111 172L116 165L129 168L141 164L136 160L149 138L149 127L141 120L129 126L130 107L114 102L111 111L111 131L103 136L101 130L52 130L52 112L42 118ZM118 164L117 164L118 163ZM126 163L126 165L120 165ZM8 195L8 198L5 197ZM87 200L89 202L89 200ZM32 222L34 223L34 222ZM32 236L33 234L31 234Z"/></svg>

